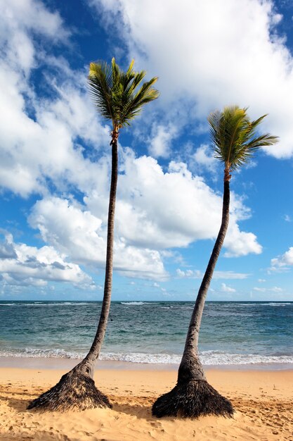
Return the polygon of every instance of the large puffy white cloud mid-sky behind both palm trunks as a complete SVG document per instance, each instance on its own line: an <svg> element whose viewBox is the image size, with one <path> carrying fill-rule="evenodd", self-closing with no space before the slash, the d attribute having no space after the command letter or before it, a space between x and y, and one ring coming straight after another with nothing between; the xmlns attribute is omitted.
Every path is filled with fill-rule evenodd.
<svg viewBox="0 0 293 441"><path fill-rule="evenodd" d="M99 190L89 190L84 205L74 199L44 197L34 205L29 222L39 230L44 242L73 261L103 268L109 163L103 158L96 166L100 170L96 187ZM238 218L247 217L247 209L235 196L233 200L231 228L224 244L226 254L257 253L261 247L256 237L241 232L237 225ZM119 175L115 268L131 277L166 278L166 249L214 239L221 223L221 206L221 196L202 178L193 176L184 163L171 162L164 173L155 159L136 158L127 149Z"/></svg>

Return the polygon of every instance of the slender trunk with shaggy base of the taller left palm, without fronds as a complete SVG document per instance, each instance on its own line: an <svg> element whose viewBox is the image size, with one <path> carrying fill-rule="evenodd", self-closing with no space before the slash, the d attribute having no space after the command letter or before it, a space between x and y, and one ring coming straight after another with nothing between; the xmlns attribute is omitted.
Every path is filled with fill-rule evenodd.
<svg viewBox="0 0 293 441"><path fill-rule="evenodd" d="M110 311L111 292L112 292L112 273L113 273L113 244L114 244L114 221L115 221L115 201L118 178L118 154L117 140L119 132L112 132L112 173L111 187L108 209L108 234L107 234L107 255L105 267L105 285L102 310L96 336L89 350L89 354L72 371L63 375L59 383L38 398L34 399L27 406L27 409L34 407L49 411L66 411L77 408L79 410L91 409L95 407L112 407L108 397L100 392L93 381L93 373L96 360L100 354L105 330L108 323Z"/></svg>

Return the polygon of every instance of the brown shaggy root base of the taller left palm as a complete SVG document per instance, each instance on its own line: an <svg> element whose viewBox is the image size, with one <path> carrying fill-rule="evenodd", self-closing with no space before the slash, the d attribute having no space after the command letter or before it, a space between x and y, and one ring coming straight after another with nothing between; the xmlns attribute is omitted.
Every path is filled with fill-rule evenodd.
<svg viewBox="0 0 293 441"><path fill-rule="evenodd" d="M112 407L108 397L102 394L93 379L80 371L63 375L56 386L41 394L27 406L27 409L38 408L44 411L68 411L93 409L95 407Z"/></svg>

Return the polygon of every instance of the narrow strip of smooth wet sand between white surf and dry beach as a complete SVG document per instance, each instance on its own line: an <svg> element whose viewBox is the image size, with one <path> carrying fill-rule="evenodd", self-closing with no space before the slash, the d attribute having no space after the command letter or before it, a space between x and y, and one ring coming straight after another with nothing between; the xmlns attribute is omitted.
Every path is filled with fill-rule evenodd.
<svg viewBox="0 0 293 441"><path fill-rule="evenodd" d="M58 357L11 357L0 356L0 368L24 368L45 370L69 370L82 359ZM96 371L178 371L178 364L135 363L131 361L98 360ZM203 365L204 371L293 371L293 364L217 364Z"/></svg>

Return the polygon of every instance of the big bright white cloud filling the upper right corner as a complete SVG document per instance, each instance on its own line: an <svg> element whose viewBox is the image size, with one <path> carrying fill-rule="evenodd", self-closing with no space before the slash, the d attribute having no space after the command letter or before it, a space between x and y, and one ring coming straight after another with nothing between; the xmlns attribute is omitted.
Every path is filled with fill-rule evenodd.
<svg viewBox="0 0 293 441"><path fill-rule="evenodd" d="M193 124L195 117L205 120L226 104L250 106L252 118L269 113L263 130L280 136L280 144L266 151L277 158L292 156L293 102L287 97L293 94L293 62L276 34L281 15L273 1L89 3L99 13L103 5L105 21L115 20L138 68L159 76L165 112L185 97L193 102L185 122Z"/></svg>

